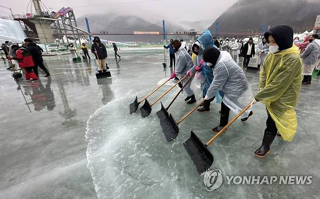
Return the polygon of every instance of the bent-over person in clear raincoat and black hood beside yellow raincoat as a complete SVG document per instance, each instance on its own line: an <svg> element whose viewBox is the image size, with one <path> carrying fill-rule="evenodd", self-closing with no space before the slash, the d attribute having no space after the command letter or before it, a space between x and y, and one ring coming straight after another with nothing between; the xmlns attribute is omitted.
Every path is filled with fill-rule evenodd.
<svg viewBox="0 0 320 199"><path fill-rule="evenodd" d="M203 52L203 60L212 68L214 76L204 99L210 100L219 90L225 93L221 102L220 124L212 129L219 132L228 124L230 110L239 113L252 101L252 90L245 72L228 52L209 47ZM248 109L241 121L246 121L252 114Z"/></svg>

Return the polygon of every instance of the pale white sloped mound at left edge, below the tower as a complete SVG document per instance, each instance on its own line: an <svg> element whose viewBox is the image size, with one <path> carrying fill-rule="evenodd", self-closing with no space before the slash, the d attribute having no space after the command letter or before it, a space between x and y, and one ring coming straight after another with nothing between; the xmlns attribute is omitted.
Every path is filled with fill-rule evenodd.
<svg viewBox="0 0 320 199"><path fill-rule="evenodd" d="M0 42L12 41L21 43L27 38L19 21L0 18Z"/></svg>

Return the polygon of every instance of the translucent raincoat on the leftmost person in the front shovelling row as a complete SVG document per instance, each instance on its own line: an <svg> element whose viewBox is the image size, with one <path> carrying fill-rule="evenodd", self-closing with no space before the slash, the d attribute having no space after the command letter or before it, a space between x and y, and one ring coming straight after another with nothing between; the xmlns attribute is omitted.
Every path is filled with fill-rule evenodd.
<svg viewBox="0 0 320 199"><path fill-rule="evenodd" d="M185 49L185 42L181 43L181 46L178 50L176 55L176 74L178 78L183 78L187 72L194 66L192 62L192 58L190 54L188 54L187 50ZM181 83L184 85L190 77L184 79ZM189 84L183 89L187 96L191 96L194 94L195 84L194 81L191 80Z"/></svg>

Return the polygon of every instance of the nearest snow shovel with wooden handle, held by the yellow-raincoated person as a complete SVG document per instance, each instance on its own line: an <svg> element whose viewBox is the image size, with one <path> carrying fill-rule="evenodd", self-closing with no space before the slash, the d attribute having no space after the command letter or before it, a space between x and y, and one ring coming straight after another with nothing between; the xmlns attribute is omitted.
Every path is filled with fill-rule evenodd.
<svg viewBox="0 0 320 199"><path fill-rule="evenodd" d="M223 127L211 140L209 140L205 145L196 136L196 134L191 131L191 136L188 140L184 141L183 146L187 150L188 154L196 165L196 170L199 174L205 172L209 169L213 163L213 155L208 149L213 140L215 140L222 132L224 132L236 119L238 119L249 107L251 103L248 104L244 109L241 110L225 127Z"/></svg>

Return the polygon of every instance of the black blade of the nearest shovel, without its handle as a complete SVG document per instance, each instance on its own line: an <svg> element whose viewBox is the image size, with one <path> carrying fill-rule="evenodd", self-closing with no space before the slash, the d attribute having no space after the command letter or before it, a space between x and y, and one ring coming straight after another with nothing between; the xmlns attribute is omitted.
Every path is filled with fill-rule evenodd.
<svg viewBox="0 0 320 199"><path fill-rule="evenodd" d="M183 146L188 151L199 174L205 172L211 167L213 163L213 155L193 131L191 131L190 138L184 141Z"/></svg>

